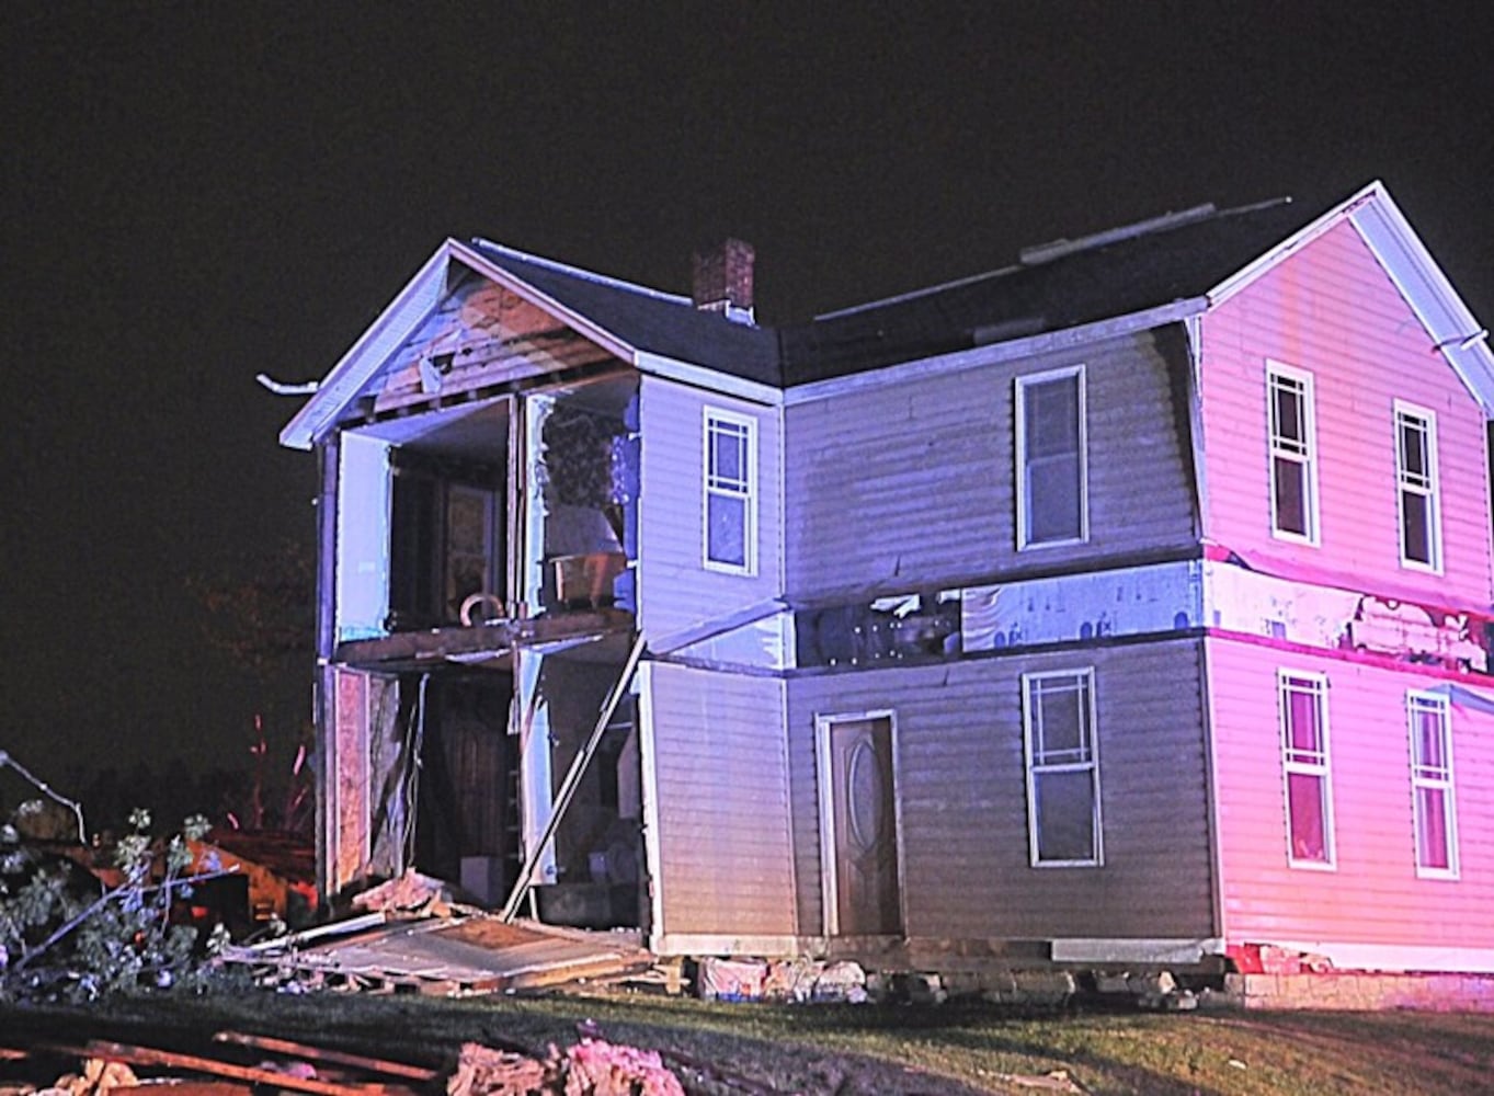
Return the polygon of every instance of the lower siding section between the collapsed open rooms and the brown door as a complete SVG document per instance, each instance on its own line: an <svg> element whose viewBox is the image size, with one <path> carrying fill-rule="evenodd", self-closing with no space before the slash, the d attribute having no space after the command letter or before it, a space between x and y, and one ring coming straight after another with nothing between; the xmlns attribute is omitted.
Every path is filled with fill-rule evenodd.
<svg viewBox="0 0 1494 1096"><path fill-rule="evenodd" d="M793 935L783 682L651 663L662 924Z"/></svg>

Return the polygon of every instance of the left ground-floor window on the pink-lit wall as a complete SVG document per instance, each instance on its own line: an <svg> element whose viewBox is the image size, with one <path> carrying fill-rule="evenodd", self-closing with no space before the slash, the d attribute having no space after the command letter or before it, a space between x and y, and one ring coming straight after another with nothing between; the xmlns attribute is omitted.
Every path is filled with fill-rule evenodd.
<svg viewBox="0 0 1494 1096"><path fill-rule="evenodd" d="M1280 670L1282 769L1292 868L1333 868L1333 790L1328 784L1328 681Z"/></svg>

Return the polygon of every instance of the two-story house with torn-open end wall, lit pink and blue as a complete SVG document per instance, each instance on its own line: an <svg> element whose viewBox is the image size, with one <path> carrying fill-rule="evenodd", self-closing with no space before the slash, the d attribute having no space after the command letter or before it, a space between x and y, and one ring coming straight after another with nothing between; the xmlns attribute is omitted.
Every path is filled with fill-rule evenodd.
<svg viewBox="0 0 1494 1096"><path fill-rule="evenodd" d="M447 240L282 435L320 884L666 954L1494 969L1491 414L1379 184L778 329L738 242L678 297Z"/></svg>

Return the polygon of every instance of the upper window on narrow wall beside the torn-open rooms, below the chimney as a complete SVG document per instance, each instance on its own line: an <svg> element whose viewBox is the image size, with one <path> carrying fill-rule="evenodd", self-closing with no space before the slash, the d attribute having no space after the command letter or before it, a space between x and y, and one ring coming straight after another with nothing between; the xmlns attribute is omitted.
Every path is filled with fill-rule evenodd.
<svg viewBox="0 0 1494 1096"><path fill-rule="evenodd" d="M757 421L705 409L705 566L757 570Z"/></svg>

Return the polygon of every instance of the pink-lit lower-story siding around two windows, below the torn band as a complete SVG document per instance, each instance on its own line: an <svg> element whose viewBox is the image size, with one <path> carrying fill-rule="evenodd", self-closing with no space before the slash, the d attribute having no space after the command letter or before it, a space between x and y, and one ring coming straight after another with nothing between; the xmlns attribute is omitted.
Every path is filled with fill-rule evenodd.
<svg viewBox="0 0 1494 1096"><path fill-rule="evenodd" d="M1406 693L1440 682L1209 639L1221 893L1230 942L1494 948L1494 715L1454 702L1458 879L1418 878ZM1286 862L1277 670L1327 678L1336 866ZM1330 956L1331 957L1331 956Z"/></svg>

